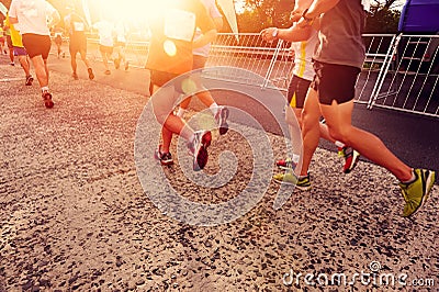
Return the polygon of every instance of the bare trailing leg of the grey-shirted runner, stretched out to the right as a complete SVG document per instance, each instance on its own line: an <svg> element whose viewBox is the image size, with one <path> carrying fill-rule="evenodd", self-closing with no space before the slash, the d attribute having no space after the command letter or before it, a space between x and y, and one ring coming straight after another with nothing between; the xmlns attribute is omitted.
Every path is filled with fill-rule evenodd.
<svg viewBox="0 0 439 292"><path fill-rule="evenodd" d="M386 168L398 180L412 179L412 168L391 153L375 135L352 126L353 101L331 105L320 104L322 113L328 125L330 136L357 149L364 157Z"/></svg>

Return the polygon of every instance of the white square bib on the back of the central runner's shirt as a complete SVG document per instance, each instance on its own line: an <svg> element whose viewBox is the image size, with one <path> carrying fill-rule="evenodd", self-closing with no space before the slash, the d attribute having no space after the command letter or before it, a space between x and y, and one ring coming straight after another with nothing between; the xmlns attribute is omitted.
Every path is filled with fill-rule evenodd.
<svg viewBox="0 0 439 292"><path fill-rule="evenodd" d="M169 38L192 42L195 32L195 14L171 10L165 18L165 35Z"/></svg>

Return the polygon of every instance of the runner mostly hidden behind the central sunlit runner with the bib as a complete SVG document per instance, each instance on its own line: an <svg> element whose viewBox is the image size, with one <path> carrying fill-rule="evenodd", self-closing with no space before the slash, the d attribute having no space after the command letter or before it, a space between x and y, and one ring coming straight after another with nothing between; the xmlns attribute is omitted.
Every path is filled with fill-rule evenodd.
<svg viewBox="0 0 439 292"><path fill-rule="evenodd" d="M216 7L215 0L202 0L201 1L205 8L207 9L209 14L213 19L216 30L219 31L223 27L223 15L221 14L218 8ZM196 29L195 40L201 36L200 29ZM209 52L211 49L211 44L207 44L203 47L199 47L192 50L193 54L193 66L192 70L203 69L209 57ZM199 87L202 88L201 79L199 74L194 76L195 81L199 83ZM207 90L196 93L196 97L212 111L213 116L215 117L216 124L219 127L219 134L224 135L228 131L227 117L228 117L228 109L225 106L218 106L214 99L212 98L211 92ZM185 111L189 108L189 103L191 102L191 98L187 98L180 103L180 109L177 113L178 116L182 117Z"/></svg>

